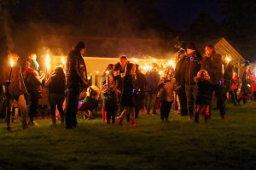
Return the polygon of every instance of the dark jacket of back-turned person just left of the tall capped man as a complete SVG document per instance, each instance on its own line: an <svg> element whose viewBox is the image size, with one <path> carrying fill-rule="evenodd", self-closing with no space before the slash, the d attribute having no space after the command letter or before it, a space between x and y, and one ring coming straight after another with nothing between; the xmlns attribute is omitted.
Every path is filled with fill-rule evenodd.
<svg viewBox="0 0 256 170"><path fill-rule="evenodd" d="M64 72L54 71L44 85L49 88L50 94L65 94L65 84Z"/></svg>

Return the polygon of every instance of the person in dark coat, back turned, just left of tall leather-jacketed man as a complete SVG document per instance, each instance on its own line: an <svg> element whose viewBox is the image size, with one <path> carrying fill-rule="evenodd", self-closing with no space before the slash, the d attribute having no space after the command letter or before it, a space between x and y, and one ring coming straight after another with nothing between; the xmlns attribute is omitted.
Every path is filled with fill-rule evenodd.
<svg viewBox="0 0 256 170"><path fill-rule="evenodd" d="M64 123L64 111L62 105L65 100L66 79L63 69L60 66L55 67L55 71L50 75L44 85L49 88L49 106L52 123L54 125L56 124L56 105L61 116L61 123Z"/></svg>

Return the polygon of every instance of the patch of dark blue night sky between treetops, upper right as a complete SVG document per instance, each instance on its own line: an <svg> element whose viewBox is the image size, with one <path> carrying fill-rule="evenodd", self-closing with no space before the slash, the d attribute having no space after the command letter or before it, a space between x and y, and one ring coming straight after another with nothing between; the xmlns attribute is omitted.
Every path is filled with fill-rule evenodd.
<svg viewBox="0 0 256 170"><path fill-rule="evenodd" d="M184 30L198 14L210 14L214 20L223 20L218 13L218 0L159 0L157 8L175 30Z"/></svg>

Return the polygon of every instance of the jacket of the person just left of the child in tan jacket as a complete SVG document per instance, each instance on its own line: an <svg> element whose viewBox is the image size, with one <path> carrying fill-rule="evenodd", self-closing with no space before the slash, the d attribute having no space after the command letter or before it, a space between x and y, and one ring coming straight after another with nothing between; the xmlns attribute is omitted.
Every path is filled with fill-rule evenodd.
<svg viewBox="0 0 256 170"><path fill-rule="evenodd" d="M158 82L160 82L160 75L157 71L149 71L148 74L146 75L147 78L147 91L150 94L156 94L158 91Z"/></svg>

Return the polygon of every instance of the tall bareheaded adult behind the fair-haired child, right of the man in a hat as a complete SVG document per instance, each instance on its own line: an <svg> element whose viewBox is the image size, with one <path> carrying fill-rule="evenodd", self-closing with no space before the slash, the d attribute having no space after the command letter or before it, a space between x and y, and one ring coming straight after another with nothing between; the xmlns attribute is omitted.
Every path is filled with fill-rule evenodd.
<svg viewBox="0 0 256 170"><path fill-rule="evenodd" d="M225 115L225 88L223 85L223 73L222 73L222 59L220 54L216 54L216 51L212 45L207 45L205 48L205 56L202 62L202 68L207 70L213 83L219 84L212 88L212 94L217 97L217 105L221 117L224 119ZM220 82L220 83L219 83Z"/></svg>

